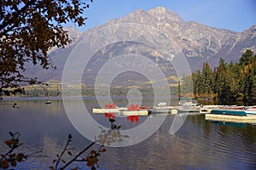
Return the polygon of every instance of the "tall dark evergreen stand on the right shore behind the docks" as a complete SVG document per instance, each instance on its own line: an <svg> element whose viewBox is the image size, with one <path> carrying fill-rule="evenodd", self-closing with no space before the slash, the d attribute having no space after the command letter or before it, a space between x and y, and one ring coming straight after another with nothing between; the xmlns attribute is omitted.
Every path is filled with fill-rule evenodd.
<svg viewBox="0 0 256 170"><path fill-rule="evenodd" d="M179 92L187 87L185 93L188 93L189 86L198 99L212 99L219 105L236 104L238 101L243 105L253 105L256 103L256 55L247 49L239 62L231 60L225 63L220 58L214 69L206 62L202 70L183 77L181 82Z"/></svg>

